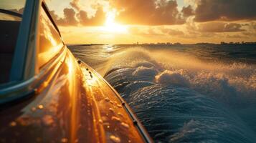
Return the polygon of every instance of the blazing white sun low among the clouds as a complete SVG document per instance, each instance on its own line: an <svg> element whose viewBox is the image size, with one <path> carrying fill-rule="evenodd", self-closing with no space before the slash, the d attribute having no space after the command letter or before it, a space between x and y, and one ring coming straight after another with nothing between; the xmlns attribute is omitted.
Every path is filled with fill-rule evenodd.
<svg viewBox="0 0 256 143"><path fill-rule="evenodd" d="M127 33L127 26L118 24L115 22L115 11L108 11L105 20L105 25L103 26L103 31L108 33Z"/></svg>

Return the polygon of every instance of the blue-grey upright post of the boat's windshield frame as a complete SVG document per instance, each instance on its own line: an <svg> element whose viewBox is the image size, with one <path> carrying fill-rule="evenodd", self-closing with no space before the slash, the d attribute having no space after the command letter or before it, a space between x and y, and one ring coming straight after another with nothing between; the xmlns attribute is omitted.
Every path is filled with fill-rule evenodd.
<svg viewBox="0 0 256 143"><path fill-rule="evenodd" d="M11 66L10 82L22 81L27 58L30 58L30 61L34 59L31 57L34 55L34 48L31 46L34 46L35 42L37 42L34 41L33 36L37 35L37 15L39 12L37 7L40 2L34 0L26 1ZM31 66L33 66L33 63ZM30 68L34 69L33 67Z"/></svg>

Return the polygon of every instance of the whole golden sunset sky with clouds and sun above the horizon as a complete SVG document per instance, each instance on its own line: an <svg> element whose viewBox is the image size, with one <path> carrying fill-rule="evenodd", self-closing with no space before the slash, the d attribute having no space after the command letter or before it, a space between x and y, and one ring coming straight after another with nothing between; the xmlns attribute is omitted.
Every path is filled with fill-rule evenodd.
<svg viewBox="0 0 256 143"><path fill-rule="evenodd" d="M256 41L255 0L45 0L67 44Z"/></svg>

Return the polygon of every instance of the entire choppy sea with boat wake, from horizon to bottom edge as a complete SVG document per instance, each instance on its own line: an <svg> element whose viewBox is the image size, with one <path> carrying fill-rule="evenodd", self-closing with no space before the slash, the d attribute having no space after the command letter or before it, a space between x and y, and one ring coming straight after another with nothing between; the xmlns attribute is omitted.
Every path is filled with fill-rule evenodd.
<svg viewBox="0 0 256 143"><path fill-rule="evenodd" d="M155 142L256 142L256 45L72 45Z"/></svg>

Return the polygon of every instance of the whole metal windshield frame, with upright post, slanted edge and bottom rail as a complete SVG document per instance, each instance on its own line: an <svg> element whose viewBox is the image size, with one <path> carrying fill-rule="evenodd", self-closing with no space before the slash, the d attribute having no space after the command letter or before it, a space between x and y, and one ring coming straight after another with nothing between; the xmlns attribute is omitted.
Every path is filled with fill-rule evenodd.
<svg viewBox="0 0 256 143"><path fill-rule="evenodd" d="M65 59L67 49L60 34L62 43L64 44L60 53L45 65L44 70L39 70L37 66L39 14L41 8L47 13L54 28L60 34L44 1L27 0L15 46L10 80L8 83L0 85L0 106L34 95L49 73L52 73L53 67Z"/></svg>

